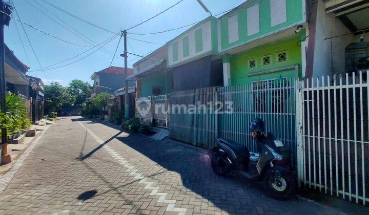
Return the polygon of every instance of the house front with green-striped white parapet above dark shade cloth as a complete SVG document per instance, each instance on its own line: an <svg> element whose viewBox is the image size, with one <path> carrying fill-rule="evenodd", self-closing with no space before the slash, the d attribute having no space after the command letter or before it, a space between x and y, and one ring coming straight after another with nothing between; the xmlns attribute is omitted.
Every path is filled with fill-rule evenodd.
<svg viewBox="0 0 369 215"><path fill-rule="evenodd" d="M222 85L218 25L217 18L210 16L167 42L173 91Z"/></svg>

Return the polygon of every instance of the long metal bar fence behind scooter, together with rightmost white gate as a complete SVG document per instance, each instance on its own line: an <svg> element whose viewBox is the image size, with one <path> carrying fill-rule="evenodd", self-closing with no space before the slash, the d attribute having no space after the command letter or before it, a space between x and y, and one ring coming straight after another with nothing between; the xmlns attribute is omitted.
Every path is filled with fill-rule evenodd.
<svg viewBox="0 0 369 215"><path fill-rule="evenodd" d="M215 137L222 137L252 152L256 143L248 126L252 119L261 118L267 133L291 147L299 185L365 205L369 202L368 77L369 71L173 92L170 100L167 96L157 100L177 105L181 111L172 109L169 118L157 118L169 121L173 139L211 148ZM142 99L136 99L136 107L146 105ZM185 112L183 106L195 110ZM153 120L153 115L146 118ZM136 116L140 117L137 111Z"/></svg>

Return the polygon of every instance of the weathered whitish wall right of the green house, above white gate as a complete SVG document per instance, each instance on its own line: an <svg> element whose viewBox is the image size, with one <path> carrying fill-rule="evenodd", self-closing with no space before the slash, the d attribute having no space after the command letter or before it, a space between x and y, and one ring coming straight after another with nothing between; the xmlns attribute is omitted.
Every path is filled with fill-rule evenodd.
<svg viewBox="0 0 369 215"><path fill-rule="evenodd" d="M313 76L344 73L345 48L359 42L360 36L352 34L334 13L325 13L324 2L318 1ZM368 33L364 37L369 41Z"/></svg>

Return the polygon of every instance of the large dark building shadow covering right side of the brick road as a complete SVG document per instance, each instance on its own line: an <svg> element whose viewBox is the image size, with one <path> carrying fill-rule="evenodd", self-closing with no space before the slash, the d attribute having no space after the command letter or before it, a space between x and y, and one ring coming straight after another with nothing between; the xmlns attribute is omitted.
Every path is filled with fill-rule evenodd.
<svg viewBox="0 0 369 215"><path fill-rule="evenodd" d="M265 197L255 183L215 175L210 158L203 150L175 141L154 141L141 135L117 139L169 171L175 171L181 177L180 184L229 213L256 212L256 206L252 202L260 204L267 200L268 204L280 204L277 200ZM173 182L176 183L178 182ZM178 187L177 190L181 195L186 195L186 189ZM289 203L282 204L287 206Z"/></svg>

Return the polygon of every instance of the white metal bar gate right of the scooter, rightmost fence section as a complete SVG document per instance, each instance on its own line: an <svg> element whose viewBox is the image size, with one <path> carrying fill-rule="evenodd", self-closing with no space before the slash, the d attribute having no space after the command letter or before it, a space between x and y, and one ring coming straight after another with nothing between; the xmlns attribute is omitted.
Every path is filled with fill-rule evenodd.
<svg viewBox="0 0 369 215"><path fill-rule="evenodd" d="M365 205L369 178L366 72L298 83L298 178Z"/></svg>

